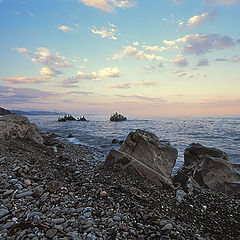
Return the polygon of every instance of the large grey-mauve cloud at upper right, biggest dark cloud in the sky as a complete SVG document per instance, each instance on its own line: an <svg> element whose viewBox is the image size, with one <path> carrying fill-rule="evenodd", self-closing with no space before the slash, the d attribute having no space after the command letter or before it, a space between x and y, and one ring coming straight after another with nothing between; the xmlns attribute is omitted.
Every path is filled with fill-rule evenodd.
<svg viewBox="0 0 240 240"><path fill-rule="evenodd" d="M192 34L185 35L173 41L163 40L167 46L183 44L181 50L188 54L204 54L212 50L221 50L236 45L234 39L228 36L219 36L218 34Z"/></svg>

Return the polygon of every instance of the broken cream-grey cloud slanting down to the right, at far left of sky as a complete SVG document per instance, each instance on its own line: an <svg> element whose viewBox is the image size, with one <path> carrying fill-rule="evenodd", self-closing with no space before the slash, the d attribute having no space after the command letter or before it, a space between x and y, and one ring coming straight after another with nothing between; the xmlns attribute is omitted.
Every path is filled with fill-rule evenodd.
<svg viewBox="0 0 240 240"><path fill-rule="evenodd" d="M65 57L61 56L59 53L53 54L51 50L45 47L39 47L35 52L26 48L17 48L16 50L29 58L32 62L47 66L50 69L71 67L71 64Z"/></svg>

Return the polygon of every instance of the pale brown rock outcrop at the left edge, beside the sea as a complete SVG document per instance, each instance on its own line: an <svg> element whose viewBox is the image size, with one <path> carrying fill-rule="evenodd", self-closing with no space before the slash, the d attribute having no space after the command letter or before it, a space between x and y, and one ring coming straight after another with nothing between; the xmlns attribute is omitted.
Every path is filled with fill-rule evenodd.
<svg viewBox="0 0 240 240"><path fill-rule="evenodd" d="M43 138L35 124L30 123L27 117L8 114L0 118L0 138L29 139L42 144Z"/></svg>

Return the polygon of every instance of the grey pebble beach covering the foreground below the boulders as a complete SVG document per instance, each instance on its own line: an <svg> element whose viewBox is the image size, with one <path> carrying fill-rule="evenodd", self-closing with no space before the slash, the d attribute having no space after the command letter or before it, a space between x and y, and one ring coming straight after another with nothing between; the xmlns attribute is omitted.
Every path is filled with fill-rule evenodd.
<svg viewBox="0 0 240 240"><path fill-rule="evenodd" d="M45 139L0 139L0 239L239 239L239 195L194 189L178 201L106 170L97 149Z"/></svg>

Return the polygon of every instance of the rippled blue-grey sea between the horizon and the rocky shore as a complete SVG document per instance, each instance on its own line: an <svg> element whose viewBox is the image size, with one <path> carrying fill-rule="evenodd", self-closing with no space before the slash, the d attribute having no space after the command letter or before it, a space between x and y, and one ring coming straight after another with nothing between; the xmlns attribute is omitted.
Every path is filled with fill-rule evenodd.
<svg viewBox="0 0 240 240"><path fill-rule="evenodd" d="M183 163L184 149L191 143L200 143L226 152L231 162L240 163L240 116L239 117L151 117L128 118L124 122L110 122L109 116L85 116L87 122L58 122L58 116L28 116L43 131L67 138L71 132L75 144L101 149L105 154L111 148L112 139L124 140L130 131L143 129L168 140L178 149L175 170Z"/></svg>

